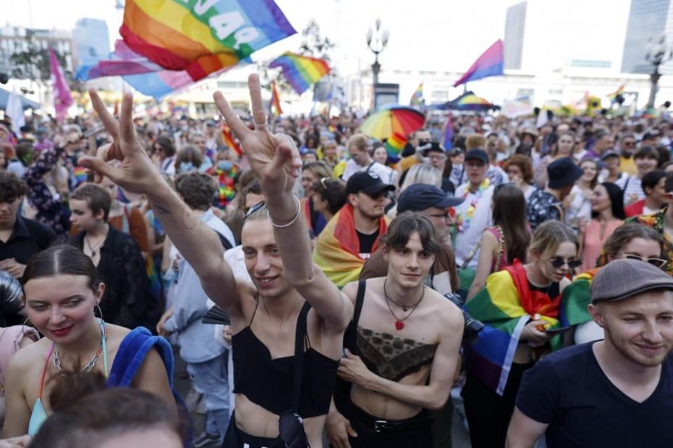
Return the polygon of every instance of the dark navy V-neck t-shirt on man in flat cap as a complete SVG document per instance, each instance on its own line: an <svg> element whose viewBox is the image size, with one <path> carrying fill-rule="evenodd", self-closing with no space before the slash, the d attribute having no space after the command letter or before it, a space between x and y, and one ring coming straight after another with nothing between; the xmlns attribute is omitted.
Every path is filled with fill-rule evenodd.
<svg viewBox="0 0 673 448"><path fill-rule="evenodd" d="M548 448L673 446L673 356L644 402L622 393L599 366L592 345L552 353L524 374L517 407L549 423Z"/></svg>

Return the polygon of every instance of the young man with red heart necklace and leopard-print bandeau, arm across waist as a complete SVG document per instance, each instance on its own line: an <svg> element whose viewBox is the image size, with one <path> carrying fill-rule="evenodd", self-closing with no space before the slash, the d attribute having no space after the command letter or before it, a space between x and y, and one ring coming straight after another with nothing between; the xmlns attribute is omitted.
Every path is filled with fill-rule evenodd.
<svg viewBox="0 0 673 448"><path fill-rule="evenodd" d="M444 406L458 362L460 309L425 286L441 250L432 223L399 215L383 250L387 276L343 289L355 313L338 371L352 386L335 392L326 428L338 448L432 447L425 409Z"/></svg>

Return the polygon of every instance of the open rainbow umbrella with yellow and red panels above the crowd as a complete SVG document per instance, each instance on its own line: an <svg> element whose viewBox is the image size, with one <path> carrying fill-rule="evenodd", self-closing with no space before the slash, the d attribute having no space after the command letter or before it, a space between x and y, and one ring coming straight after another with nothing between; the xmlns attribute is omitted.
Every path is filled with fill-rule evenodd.
<svg viewBox="0 0 673 448"><path fill-rule="evenodd" d="M371 114L360 126L360 131L383 140L394 134L409 135L423 127L425 115L411 107L389 106Z"/></svg>

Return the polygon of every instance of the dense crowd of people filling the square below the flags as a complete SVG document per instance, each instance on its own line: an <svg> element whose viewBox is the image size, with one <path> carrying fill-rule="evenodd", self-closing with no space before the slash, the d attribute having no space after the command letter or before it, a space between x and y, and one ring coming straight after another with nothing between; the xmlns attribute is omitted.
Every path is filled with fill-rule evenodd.
<svg viewBox="0 0 673 448"><path fill-rule="evenodd" d="M462 114L451 149L428 114L397 153L249 85L0 124L0 447L670 440L665 112Z"/></svg>

